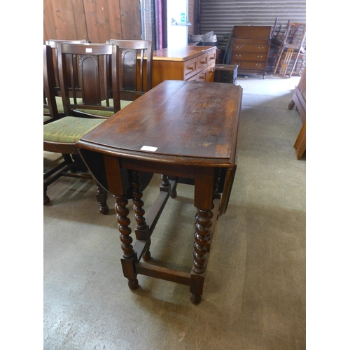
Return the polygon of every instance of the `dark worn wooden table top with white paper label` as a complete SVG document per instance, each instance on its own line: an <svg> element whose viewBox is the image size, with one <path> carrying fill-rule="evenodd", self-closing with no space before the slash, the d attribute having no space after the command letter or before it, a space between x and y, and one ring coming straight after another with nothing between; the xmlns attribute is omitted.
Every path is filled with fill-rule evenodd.
<svg viewBox="0 0 350 350"><path fill-rule="evenodd" d="M240 86L226 83L165 80L77 146L122 158L232 167L241 94Z"/></svg>

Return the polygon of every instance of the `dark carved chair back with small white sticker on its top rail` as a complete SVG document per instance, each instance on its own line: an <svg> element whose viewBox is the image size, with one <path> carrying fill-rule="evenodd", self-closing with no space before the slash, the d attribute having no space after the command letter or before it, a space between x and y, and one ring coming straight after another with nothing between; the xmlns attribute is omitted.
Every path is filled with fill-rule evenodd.
<svg viewBox="0 0 350 350"><path fill-rule="evenodd" d="M65 116L109 118L120 111L118 50L112 44L62 43L58 48L58 66ZM69 74L74 59L78 80Z"/></svg>

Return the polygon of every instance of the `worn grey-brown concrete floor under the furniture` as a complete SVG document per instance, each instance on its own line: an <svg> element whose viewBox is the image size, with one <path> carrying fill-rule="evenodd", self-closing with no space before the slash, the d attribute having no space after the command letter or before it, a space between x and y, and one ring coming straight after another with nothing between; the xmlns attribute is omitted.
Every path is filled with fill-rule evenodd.
<svg viewBox="0 0 350 350"><path fill-rule="evenodd" d="M244 97L237 174L216 224L199 305L177 283L139 276L139 289L127 287L111 196L103 216L91 181L62 178L49 187L44 349L305 349L306 156L295 157L302 124L288 110L298 81L238 78ZM44 162L55 156L44 153ZM155 174L144 190L146 213L159 183ZM190 271L194 218L193 188L179 185L152 236L154 263Z"/></svg>

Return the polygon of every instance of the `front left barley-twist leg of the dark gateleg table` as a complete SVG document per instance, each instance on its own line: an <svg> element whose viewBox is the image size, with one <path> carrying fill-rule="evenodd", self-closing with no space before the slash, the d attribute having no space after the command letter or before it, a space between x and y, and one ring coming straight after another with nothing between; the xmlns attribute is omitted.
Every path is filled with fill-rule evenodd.
<svg viewBox="0 0 350 350"><path fill-rule="evenodd" d="M127 198L125 196L116 197L116 213L118 221L118 230L120 232L119 238L121 242L121 248L123 251L123 258L121 259L124 276L128 279L128 286L130 289L136 289L139 287L139 281L137 281L137 274L134 273L134 261L136 260L136 254L132 246L132 232L130 225L130 219L127 217L129 209L127 209Z"/></svg>

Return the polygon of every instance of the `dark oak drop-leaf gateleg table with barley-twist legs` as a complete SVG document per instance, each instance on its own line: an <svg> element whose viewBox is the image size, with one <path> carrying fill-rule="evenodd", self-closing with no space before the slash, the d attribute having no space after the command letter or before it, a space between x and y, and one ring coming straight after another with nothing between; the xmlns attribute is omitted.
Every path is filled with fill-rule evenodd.
<svg viewBox="0 0 350 350"><path fill-rule="evenodd" d="M144 274L190 286L190 300L200 303L215 224L228 207L237 167L241 97L237 85L165 80L78 141L87 167L116 199L121 263L131 289ZM154 173L162 174L160 193L145 215L142 181ZM193 185L197 208L188 273L148 262L152 232L178 183Z"/></svg>

